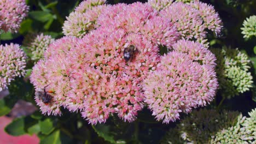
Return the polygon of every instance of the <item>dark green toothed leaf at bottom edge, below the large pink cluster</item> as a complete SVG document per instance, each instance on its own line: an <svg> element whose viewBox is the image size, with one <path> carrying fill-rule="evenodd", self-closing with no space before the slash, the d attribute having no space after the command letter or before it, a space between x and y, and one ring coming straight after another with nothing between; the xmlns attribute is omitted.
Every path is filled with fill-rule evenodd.
<svg viewBox="0 0 256 144"><path fill-rule="evenodd" d="M109 125L97 124L97 125L92 125L92 128L95 130L98 136L102 137L104 140L110 143L117 143L114 140L114 136L110 133L111 131L110 131Z"/></svg>

